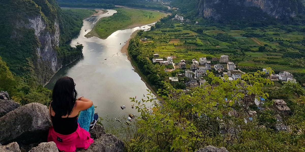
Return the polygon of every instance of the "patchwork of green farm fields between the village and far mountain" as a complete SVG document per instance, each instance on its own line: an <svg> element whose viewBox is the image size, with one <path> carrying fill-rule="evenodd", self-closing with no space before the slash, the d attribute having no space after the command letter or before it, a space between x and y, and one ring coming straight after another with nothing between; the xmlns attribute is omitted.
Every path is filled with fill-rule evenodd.
<svg viewBox="0 0 305 152"><path fill-rule="evenodd" d="M271 67L275 73L288 71L305 81L305 29L301 26L245 27L239 30L203 27L170 20L161 28L145 32L140 50L151 50L160 58L173 57L174 63L200 57L228 55L237 68L255 72ZM217 64L217 61L213 61ZM187 65L188 67L188 65ZM305 82L303 82L305 83ZM303 84L300 83L300 84Z"/></svg>

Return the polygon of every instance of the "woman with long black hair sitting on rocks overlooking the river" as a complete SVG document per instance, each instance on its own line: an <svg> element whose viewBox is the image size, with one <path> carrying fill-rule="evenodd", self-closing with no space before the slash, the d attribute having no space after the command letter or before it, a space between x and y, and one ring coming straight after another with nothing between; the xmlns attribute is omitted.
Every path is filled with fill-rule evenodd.
<svg viewBox="0 0 305 152"><path fill-rule="evenodd" d="M91 100L77 98L72 78L63 77L56 81L49 112L53 126L49 129L48 142L55 142L60 151L87 149L93 143L88 131L95 126L98 115L94 114Z"/></svg>

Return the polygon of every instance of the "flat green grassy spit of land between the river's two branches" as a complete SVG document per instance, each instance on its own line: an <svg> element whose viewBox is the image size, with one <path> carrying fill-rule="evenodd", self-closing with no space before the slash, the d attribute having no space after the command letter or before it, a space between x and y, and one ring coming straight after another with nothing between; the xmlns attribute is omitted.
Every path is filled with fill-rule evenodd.
<svg viewBox="0 0 305 152"><path fill-rule="evenodd" d="M113 16L100 19L85 37L90 38L95 36L100 39L106 39L117 30L147 25L159 21L167 15L158 11L142 9L117 8L115 10L117 13Z"/></svg>

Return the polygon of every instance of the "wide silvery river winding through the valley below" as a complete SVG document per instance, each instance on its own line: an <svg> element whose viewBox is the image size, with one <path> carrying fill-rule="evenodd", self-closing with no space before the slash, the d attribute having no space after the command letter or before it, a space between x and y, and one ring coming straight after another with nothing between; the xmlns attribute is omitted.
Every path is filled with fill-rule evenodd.
<svg viewBox="0 0 305 152"><path fill-rule="evenodd" d="M146 98L143 97L143 94L146 96L148 88L140 76L133 71L127 55L121 53L125 42L140 27L116 31L106 40L84 37L101 17L112 16L117 12L115 10L107 11L105 14L84 20L80 35L70 43L73 47L77 43L83 44L84 56L60 69L46 87L52 89L60 77L73 78L79 96L91 99L97 106L95 112L102 117L104 127L118 129L126 126L125 121L128 114L138 115L136 109L131 109L133 103L130 102L129 97ZM149 26L141 28L143 29L143 27L149 28ZM126 105L126 109L122 110L121 105ZM121 122L115 121L114 118L119 118Z"/></svg>

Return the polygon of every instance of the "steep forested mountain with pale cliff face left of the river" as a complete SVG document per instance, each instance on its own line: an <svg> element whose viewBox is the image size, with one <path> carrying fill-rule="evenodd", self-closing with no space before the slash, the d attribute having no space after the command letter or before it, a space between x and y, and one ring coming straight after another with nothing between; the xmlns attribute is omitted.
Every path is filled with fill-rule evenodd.
<svg viewBox="0 0 305 152"><path fill-rule="evenodd" d="M82 21L63 14L55 0L1 1L0 12L0 56L25 81L44 85L82 54L81 48L65 46Z"/></svg>

